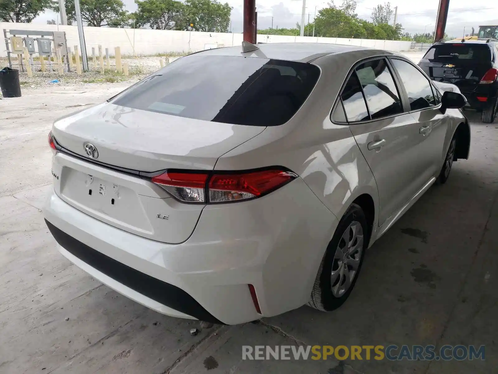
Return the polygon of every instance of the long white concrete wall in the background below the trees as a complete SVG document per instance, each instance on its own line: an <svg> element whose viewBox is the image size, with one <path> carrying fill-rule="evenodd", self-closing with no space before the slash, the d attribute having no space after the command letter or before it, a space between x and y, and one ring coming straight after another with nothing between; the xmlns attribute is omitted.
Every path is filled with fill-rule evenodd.
<svg viewBox="0 0 498 374"><path fill-rule="evenodd" d="M40 31L65 31L68 46L73 48L79 46L78 28L76 26L57 26L42 23L7 23L0 22L2 29L40 30ZM173 30L150 30L130 28L109 27L84 27L85 44L87 54L90 56L92 47L99 44L103 48L109 48L110 54L114 54L114 47L120 46L122 54L132 54L133 45L138 55L151 55L164 52L195 52L202 49L232 46L242 44L242 34L221 32L190 32ZM3 35L2 35L3 36ZM11 36L11 35L8 35ZM21 35L18 35L21 36ZM25 35L24 35L25 36ZM323 38L307 36L280 36L280 35L258 35L258 41L265 43L281 42L311 42L311 43L334 43L361 45L372 48L387 49L391 51L409 50L410 41L395 40L370 40L370 39L345 39L345 38ZM5 44L0 45L0 56L6 56Z"/></svg>

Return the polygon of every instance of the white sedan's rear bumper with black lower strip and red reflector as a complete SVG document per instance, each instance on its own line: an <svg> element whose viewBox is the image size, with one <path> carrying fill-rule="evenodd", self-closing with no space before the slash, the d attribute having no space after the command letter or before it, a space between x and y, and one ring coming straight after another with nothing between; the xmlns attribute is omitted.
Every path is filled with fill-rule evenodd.
<svg viewBox="0 0 498 374"><path fill-rule="evenodd" d="M301 179L259 199L206 206L180 244L113 227L55 192L43 212L60 252L102 283L165 315L229 325L305 304L337 225Z"/></svg>

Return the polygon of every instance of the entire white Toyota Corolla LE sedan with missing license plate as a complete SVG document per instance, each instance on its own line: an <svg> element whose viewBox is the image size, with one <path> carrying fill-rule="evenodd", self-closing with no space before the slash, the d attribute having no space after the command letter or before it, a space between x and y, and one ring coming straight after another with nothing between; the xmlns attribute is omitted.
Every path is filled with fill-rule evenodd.
<svg viewBox="0 0 498 374"><path fill-rule="evenodd" d="M44 217L64 256L159 313L331 311L373 242L468 158L464 105L383 50L194 53L53 124Z"/></svg>

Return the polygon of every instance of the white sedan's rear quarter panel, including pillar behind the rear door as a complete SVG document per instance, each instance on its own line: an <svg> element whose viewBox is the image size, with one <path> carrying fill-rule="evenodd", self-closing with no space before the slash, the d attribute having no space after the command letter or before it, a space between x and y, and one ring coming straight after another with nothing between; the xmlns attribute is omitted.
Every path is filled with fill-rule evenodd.
<svg viewBox="0 0 498 374"><path fill-rule="evenodd" d="M360 50L314 61L321 67L322 74L296 115L287 124L268 127L220 157L215 170L282 165L301 176L338 219L358 196L369 194L375 205L376 222L378 195L372 172L349 126L332 123L330 113L343 84L343 79L337 77L345 77L356 61L384 53ZM329 233L330 238L333 234ZM323 255L325 249L312 250L321 251ZM318 266L319 262L317 270Z"/></svg>

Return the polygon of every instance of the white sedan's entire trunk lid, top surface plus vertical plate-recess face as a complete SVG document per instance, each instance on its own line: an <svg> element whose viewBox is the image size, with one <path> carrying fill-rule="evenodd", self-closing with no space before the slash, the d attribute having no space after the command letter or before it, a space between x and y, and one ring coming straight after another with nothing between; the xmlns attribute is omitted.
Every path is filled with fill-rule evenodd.
<svg viewBox="0 0 498 374"><path fill-rule="evenodd" d="M177 201L139 172L213 170L220 156L264 129L101 104L54 123L52 135L62 147L52 166L54 188L68 204L107 224L180 243L204 205ZM89 143L95 159L85 150Z"/></svg>

